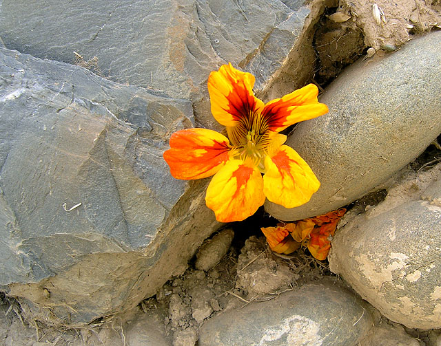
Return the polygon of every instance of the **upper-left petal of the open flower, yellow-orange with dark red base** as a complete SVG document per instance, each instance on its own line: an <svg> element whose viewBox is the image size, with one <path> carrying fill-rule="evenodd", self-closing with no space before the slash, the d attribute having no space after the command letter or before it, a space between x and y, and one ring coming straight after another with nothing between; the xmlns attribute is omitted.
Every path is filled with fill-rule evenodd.
<svg viewBox="0 0 441 346"><path fill-rule="evenodd" d="M263 102L253 93L254 76L235 69L231 63L209 74L208 92L214 118L226 127L263 109Z"/></svg>

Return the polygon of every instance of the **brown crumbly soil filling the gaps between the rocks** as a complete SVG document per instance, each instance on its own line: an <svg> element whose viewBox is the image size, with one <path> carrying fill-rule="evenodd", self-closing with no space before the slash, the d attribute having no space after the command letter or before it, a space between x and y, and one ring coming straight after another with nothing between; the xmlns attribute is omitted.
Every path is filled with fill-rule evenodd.
<svg viewBox="0 0 441 346"><path fill-rule="evenodd" d="M377 0L380 14L384 14L380 15L379 22L373 16L370 1L327 0L325 3L327 9L316 23L312 38L314 50L311 50L316 54L311 58L316 62L316 80L313 78L313 81L322 87L360 56L370 58L375 54L388 54L414 35L431 28L436 30L441 25L439 0ZM409 166L410 169L420 169L426 162L433 161L432 153L433 147L429 147L423 158ZM433 155L435 160L441 160L439 151ZM369 205L378 204L385 195L385 191L380 190L354 202L349 206L351 213L360 213ZM125 316L104 318L88 327L54 329L39 321L27 320L19 301L1 295L0 345L116 346L126 345L130 339L130 345L141 346L141 342L136 343L134 333L138 329L133 326L143 316L154 314L159 321L158 332L164 334L170 344L193 346L197 329L205 318L252 301L273 299L305 282L332 275L327 261L317 261L305 249L289 256L271 252L260 227L276 223L277 220L259 210L253 217L229 225L235 233L232 246L220 251L210 250L227 251L213 268L197 266L204 269L197 270L195 257L184 274L168 281L156 296L141 301L136 310ZM220 243L219 247L225 248L225 243ZM407 332L418 333L420 339L424 339L423 332Z"/></svg>

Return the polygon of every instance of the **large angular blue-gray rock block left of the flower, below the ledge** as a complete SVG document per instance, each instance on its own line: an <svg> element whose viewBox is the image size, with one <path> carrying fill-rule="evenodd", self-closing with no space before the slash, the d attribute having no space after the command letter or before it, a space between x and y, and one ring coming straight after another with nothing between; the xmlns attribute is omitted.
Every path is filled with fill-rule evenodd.
<svg viewBox="0 0 441 346"><path fill-rule="evenodd" d="M162 158L191 103L4 48L0 78L1 288L74 325L183 272L218 227Z"/></svg>

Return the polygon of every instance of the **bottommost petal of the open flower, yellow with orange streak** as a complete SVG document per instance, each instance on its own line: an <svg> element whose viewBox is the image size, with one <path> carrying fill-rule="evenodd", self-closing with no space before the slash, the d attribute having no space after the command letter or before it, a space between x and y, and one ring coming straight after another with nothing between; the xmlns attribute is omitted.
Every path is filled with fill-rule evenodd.
<svg viewBox="0 0 441 346"><path fill-rule="evenodd" d="M262 175L242 160L230 160L209 183L205 202L218 221L242 221L265 202Z"/></svg>

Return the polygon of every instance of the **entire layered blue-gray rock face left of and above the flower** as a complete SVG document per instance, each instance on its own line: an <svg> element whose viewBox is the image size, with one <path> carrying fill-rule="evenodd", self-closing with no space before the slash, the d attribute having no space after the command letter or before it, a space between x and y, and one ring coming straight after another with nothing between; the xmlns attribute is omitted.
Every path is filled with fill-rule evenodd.
<svg viewBox="0 0 441 346"><path fill-rule="evenodd" d="M303 1L3 1L3 290L81 325L183 272L219 224L206 181L170 175L168 139L220 129L206 83L221 64L263 91L310 12Z"/></svg>

